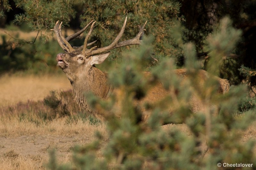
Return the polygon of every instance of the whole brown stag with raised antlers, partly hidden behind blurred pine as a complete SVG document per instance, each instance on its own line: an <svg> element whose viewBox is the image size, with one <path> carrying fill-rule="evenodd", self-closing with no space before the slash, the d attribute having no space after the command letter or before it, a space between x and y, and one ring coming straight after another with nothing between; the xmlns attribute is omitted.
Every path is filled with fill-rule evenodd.
<svg viewBox="0 0 256 170"><path fill-rule="evenodd" d="M66 38L64 38L61 33L62 23L59 24L59 22L57 22L53 29L57 37L57 41L60 44L60 47L65 51L65 53L60 53L57 55L57 66L60 67L67 75L73 87L76 102L80 105L80 107L92 113L101 120L104 119L106 116L104 115L104 113L92 109L89 106L87 99L84 96L84 93L93 92L96 96L100 97L101 99L107 100L109 94L115 91L115 89L112 89L111 85L108 84L108 75L103 71L99 70L98 68L96 68L94 65L102 63L110 54L109 51L111 49L134 44L140 45L140 37L143 34L143 31L145 30L144 26L146 25L147 22L140 27L140 31L136 35L136 37L130 40L119 42L121 36L124 33L126 20L127 17L125 18L123 27L117 35L117 37L115 38L115 40L109 46L103 48L97 48L97 46L94 46L90 49L87 48L95 42L94 41L92 43L87 43L96 21L91 21L82 30ZM84 30L90 25L91 28L85 37L84 45L80 47L72 47L68 41L79 37L80 34L83 33ZM184 76L186 74L185 69L177 69L175 70L175 72L179 77L186 77ZM150 73L147 72L145 74ZM208 73L204 70L199 70L198 74L199 77L203 80L206 79L206 77L208 77ZM219 93L227 92L229 88L228 81L226 79L221 79L218 77L216 77L216 79L219 82ZM148 91L147 95L143 98L143 101L157 102L157 100L163 99L166 94L167 91L164 89L161 82L159 82L156 86L154 86ZM200 104L200 101L197 98L191 99L191 106L193 112L197 112L203 109L203 106Z"/></svg>

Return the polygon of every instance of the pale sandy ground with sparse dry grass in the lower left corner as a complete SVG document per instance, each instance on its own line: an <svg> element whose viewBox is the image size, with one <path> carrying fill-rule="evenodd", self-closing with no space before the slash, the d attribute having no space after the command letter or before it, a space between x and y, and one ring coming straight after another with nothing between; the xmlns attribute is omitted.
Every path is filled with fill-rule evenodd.
<svg viewBox="0 0 256 170"><path fill-rule="evenodd" d="M97 128L94 128L97 129ZM72 160L72 148L92 141L91 137L45 135L22 135L0 137L0 170L6 169L47 169L49 151L54 149L57 161L67 163ZM101 153L98 157L101 157Z"/></svg>

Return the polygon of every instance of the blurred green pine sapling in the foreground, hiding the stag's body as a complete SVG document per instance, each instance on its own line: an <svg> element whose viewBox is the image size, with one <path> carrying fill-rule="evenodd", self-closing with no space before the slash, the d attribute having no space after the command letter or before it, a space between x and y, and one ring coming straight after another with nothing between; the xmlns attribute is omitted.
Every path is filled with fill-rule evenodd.
<svg viewBox="0 0 256 170"><path fill-rule="evenodd" d="M224 19L222 22L227 21ZM218 46L223 31L232 30L222 27L216 31L219 39L209 41L209 47L214 53L211 57L218 58L220 53L234 48L235 42ZM227 36L229 42L237 40L239 31L233 30L232 36ZM198 86L199 63L196 61L196 48L193 43L183 44L186 56L187 81L181 83L181 78L174 73L174 61L162 60L152 68L152 74L142 73L150 63L150 43L152 38L145 38L139 50L124 53L120 65L109 71L109 82L120 90L118 96L112 95L110 100L104 101L92 93L92 107L101 107L107 117L109 139L102 141L101 134L96 133L97 139L85 146L74 148L73 166L53 164L51 168L66 169L219 169L217 163L254 163L255 141L241 141L242 131L255 120L253 110L244 110L243 99L246 87L239 85L230 88L226 94L216 94L217 84L210 75L202 86ZM221 44L221 43L220 43ZM225 44L225 43L224 43ZM220 68L221 62L209 63L212 73ZM168 90L166 97L156 103L145 103L144 96L156 82L162 82ZM178 91L179 93L176 93ZM189 99L197 94L200 102L205 106L204 111L192 113ZM139 96L139 97L138 97ZM134 101L137 101L136 103ZM114 104L113 104L114 103ZM116 109L115 103L121 109ZM108 107L112 106L112 107ZM143 107L146 107L148 121L143 122ZM169 109L175 108L171 115ZM243 108L246 114L237 117ZM119 116L121 118L119 118ZM190 135L178 126L164 129L162 124L183 122L188 127ZM207 144L207 153L202 149ZM103 158L97 158L101 151ZM55 157L52 156L54 160ZM255 165L251 167L254 169ZM250 169L250 168L248 168Z"/></svg>

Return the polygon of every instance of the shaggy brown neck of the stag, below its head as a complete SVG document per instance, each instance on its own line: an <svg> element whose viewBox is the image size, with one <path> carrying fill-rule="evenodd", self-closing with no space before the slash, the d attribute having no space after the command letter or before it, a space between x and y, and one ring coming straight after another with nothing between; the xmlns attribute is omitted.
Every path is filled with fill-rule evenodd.
<svg viewBox="0 0 256 170"><path fill-rule="evenodd" d="M71 85L77 103L90 112L92 109L89 109L84 93L93 92L97 97L106 99L111 90L108 85L108 75L96 67L91 67L88 71L76 76L75 81L71 82Z"/></svg>

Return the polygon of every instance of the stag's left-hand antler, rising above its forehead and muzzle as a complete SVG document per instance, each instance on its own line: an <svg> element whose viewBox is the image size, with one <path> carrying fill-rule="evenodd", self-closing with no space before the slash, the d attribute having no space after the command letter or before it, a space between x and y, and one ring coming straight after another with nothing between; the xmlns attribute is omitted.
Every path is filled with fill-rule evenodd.
<svg viewBox="0 0 256 170"><path fill-rule="evenodd" d="M90 26L90 24L93 22L93 20L91 22L89 22L89 24L87 24L83 29L81 29L80 31L78 31L77 33L74 33L72 35L69 35L68 37L64 38L64 36L62 35L61 32L61 25L62 22L59 24L59 21L56 22L55 26L54 26L54 32L57 38L58 43L60 44L60 47L67 53L71 53L75 50L79 50L81 49L81 47L75 47L75 46L71 46L69 44L69 41L75 39L75 38L82 38L83 36L80 36L85 30L86 28L88 28L88 26ZM89 37L88 37L89 38ZM93 43L95 43L96 41L93 41L91 43L87 44L87 47L92 45Z"/></svg>

